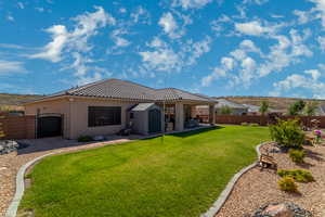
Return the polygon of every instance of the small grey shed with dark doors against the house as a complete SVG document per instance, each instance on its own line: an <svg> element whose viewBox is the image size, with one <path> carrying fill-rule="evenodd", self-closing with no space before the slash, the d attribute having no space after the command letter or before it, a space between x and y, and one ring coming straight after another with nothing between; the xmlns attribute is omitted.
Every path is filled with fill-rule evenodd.
<svg viewBox="0 0 325 217"><path fill-rule="evenodd" d="M150 135L161 132L162 111L155 103L140 103L129 111L134 132Z"/></svg>

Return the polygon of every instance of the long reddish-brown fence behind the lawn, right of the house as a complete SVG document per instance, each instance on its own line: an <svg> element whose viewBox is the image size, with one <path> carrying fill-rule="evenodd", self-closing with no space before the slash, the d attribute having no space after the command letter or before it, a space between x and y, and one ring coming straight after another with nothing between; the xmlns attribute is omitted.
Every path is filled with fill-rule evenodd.
<svg viewBox="0 0 325 217"><path fill-rule="evenodd" d="M300 122L308 127L311 127L311 120L317 119L321 122L318 125L321 128L325 128L325 116L280 116L281 119L292 119L299 118ZM216 115L217 124L231 124L231 125L240 125L242 123L256 123L262 126L266 126L269 123L272 123L268 115Z"/></svg>

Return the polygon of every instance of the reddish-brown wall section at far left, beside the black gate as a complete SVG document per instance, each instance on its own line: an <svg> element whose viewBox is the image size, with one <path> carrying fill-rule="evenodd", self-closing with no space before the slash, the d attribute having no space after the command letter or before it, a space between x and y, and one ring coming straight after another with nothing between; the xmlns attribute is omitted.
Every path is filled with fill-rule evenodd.
<svg viewBox="0 0 325 217"><path fill-rule="evenodd" d="M0 128L4 133L1 139L35 139L36 117L26 116L8 116L0 114Z"/></svg>

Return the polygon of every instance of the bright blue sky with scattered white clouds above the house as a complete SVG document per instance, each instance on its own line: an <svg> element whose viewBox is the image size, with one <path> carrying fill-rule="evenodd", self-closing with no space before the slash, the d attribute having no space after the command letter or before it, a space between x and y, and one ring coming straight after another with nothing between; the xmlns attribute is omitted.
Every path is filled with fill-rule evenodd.
<svg viewBox="0 0 325 217"><path fill-rule="evenodd" d="M0 0L0 92L104 78L325 99L325 0Z"/></svg>

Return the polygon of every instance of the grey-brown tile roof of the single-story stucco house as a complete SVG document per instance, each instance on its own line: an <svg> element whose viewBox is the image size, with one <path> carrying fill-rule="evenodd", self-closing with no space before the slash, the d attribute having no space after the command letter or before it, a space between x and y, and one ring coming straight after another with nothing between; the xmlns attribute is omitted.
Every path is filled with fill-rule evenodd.
<svg viewBox="0 0 325 217"><path fill-rule="evenodd" d="M120 79L100 80L81 87L60 91L47 95L40 100L61 95L96 97L136 101L190 100L200 102L216 102L216 100L213 100L212 98L191 93L176 88L154 89L132 81Z"/></svg>

